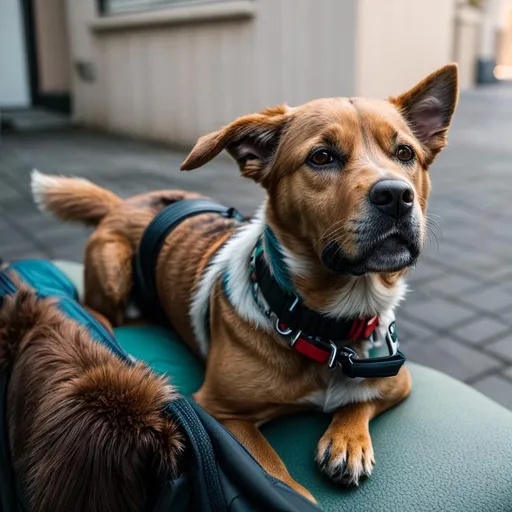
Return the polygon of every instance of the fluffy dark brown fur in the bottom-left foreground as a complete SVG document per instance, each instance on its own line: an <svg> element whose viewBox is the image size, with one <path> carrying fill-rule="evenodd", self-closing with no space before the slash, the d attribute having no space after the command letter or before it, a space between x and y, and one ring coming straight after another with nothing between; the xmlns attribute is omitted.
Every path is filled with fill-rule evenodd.
<svg viewBox="0 0 512 512"><path fill-rule="evenodd" d="M182 436L162 414L176 395L22 287L0 310L10 372L12 459L31 512L139 511L176 475Z"/></svg>

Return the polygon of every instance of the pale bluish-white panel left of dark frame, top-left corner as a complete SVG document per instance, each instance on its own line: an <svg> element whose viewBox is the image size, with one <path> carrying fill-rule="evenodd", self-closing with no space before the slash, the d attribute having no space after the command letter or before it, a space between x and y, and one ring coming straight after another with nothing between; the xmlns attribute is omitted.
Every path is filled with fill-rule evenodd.
<svg viewBox="0 0 512 512"><path fill-rule="evenodd" d="M0 0L0 107L27 107L29 103L20 2Z"/></svg>

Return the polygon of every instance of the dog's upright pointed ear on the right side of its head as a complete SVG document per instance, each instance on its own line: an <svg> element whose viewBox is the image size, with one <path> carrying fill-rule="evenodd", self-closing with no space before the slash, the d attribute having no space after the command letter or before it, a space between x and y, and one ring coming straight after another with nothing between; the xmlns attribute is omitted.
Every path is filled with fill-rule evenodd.
<svg viewBox="0 0 512 512"><path fill-rule="evenodd" d="M390 101L433 158L446 145L446 134L459 96L457 64L448 64Z"/></svg>

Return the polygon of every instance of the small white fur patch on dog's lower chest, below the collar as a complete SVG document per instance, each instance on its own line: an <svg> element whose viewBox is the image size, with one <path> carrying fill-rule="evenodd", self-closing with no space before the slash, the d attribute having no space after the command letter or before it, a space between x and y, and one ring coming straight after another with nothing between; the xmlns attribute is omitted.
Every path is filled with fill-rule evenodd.
<svg viewBox="0 0 512 512"><path fill-rule="evenodd" d="M380 397L379 388L366 379L349 379L341 370L327 370L325 385L299 400L323 412L332 412L344 405L368 402Z"/></svg>

